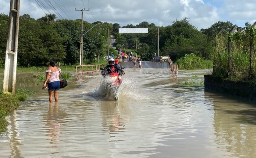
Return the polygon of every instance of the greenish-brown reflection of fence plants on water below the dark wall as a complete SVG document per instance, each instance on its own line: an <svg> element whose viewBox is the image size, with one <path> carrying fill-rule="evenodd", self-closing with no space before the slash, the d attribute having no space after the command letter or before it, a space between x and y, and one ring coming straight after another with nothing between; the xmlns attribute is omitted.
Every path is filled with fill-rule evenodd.
<svg viewBox="0 0 256 158"><path fill-rule="evenodd" d="M211 99L215 111L216 143L219 148L230 153L229 156L255 157L255 106L218 95Z"/></svg>

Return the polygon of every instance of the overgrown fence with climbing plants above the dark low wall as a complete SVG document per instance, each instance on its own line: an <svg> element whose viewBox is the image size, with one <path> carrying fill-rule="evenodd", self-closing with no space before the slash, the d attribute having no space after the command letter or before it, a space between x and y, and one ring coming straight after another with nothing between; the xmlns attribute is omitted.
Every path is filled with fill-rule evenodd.
<svg viewBox="0 0 256 158"><path fill-rule="evenodd" d="M246 24L241 30L231 31L215 37L213 75L233 81L254 81L256 77L254 25Z"/></svg>

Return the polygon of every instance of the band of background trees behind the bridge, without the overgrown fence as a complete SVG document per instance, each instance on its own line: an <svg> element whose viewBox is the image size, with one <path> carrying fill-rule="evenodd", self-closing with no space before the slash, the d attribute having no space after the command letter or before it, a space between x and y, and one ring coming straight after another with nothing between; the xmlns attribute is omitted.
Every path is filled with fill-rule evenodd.
<svg viewBox="0 0 256 158"><path fill-rule="evenodd" d="M79 63L81 20L57 20L54 15L46 15L40 19L30 18L30 15L20 16L18 66L45 66L54 59L64 65ZM7 28L9 16L0 14L0 66L5 62ZM83 61L92 63L100 55L107 55L107 29L116 36L116 47L120 49L137 50L137 54L146 60L151 60L157 52L157 29L159 28L159 55L169 55L172 60L194 53L203 59L209 59L213 46L208 40L207 32L198 31L188 18L170 23L170 26L158 27L155 24L141 22L124 28L149 28L148 33L121 34L119 24L105 22L84 22ZM95 27L94 27L95 26ZM212 32L211 32L212 33Z"/></svg>

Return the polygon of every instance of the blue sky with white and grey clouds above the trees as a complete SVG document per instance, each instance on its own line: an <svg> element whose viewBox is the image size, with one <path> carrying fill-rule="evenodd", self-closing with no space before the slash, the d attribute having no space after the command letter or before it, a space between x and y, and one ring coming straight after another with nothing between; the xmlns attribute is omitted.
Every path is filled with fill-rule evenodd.
<svg viewBox="0 0 256 158"><path fill-rule="evenodd" d="M0 13L9 15L10 1L0 0ZM145 21L171 26L187 17L198 30L218 21L239 27L246 22L253 24L255 8L256 0L20 0L20 15L29 14L34 19L49 13L57 19L81 19L84 9L83 19L89 23L118 23L122 27Z"/></svg>

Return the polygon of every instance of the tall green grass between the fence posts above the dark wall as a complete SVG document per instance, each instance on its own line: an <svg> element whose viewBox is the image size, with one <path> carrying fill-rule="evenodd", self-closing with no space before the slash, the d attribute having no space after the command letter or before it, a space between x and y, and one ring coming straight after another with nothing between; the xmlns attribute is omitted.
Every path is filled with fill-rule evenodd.
<svg viewBox="0 0 256 158"><path fill-rule="evenodd" d="M237 36L240 32L237 32L232 36L232 51L231 51L231 67L229 70L229 52L228 52L228 36L220 36L216 38L215 51L212 54L212 60L214 62L212 74L215 77L219 77L231 81L254 81L256 80L256 63L252 59L252 72L249 74L250 66L250 41L246 38L246 34L242 34L244 37ZM254 41L255 43L255 41ZM253 44L254 46L255 44ZM255 46L253 47L254 54Z"/></svg>

